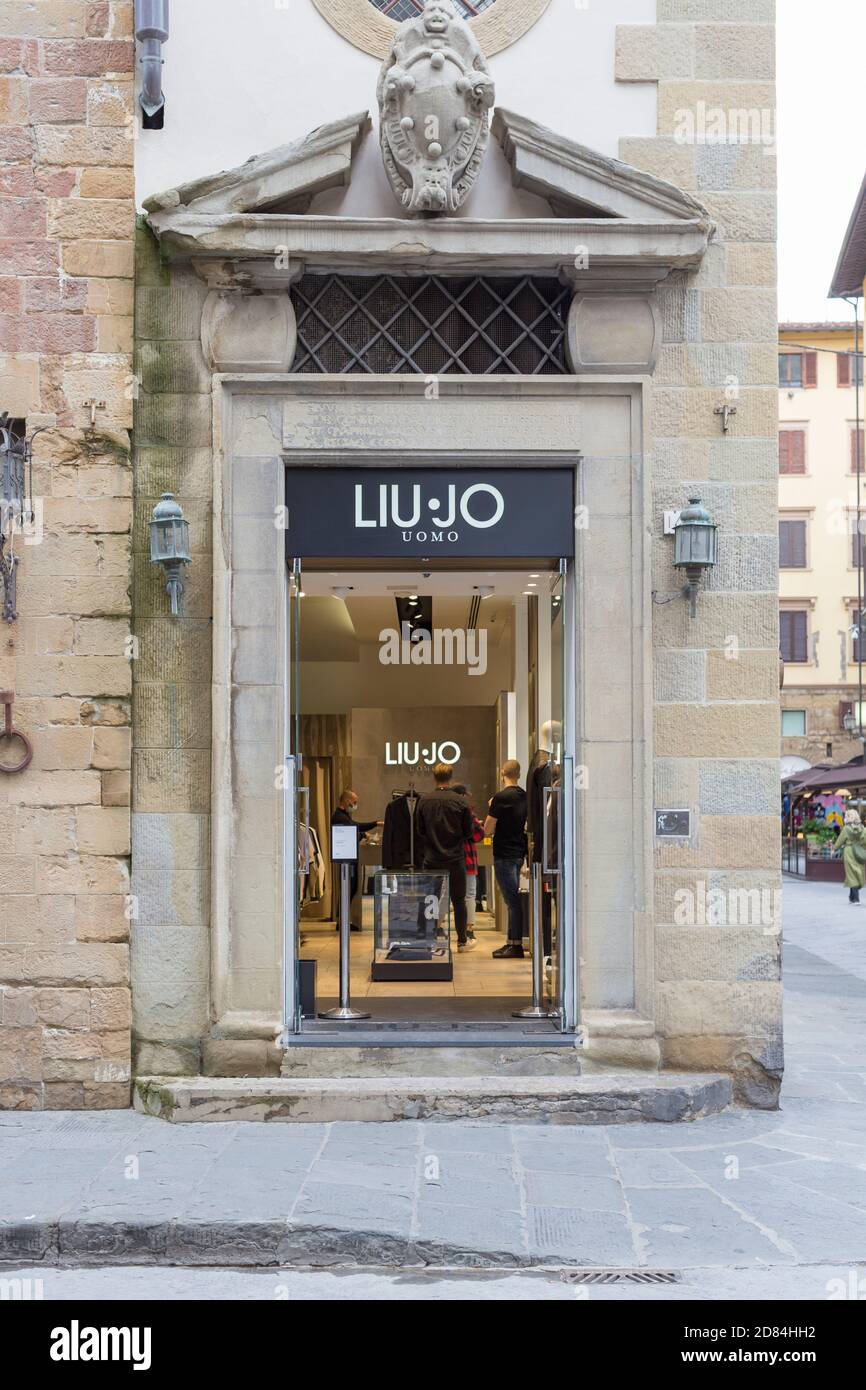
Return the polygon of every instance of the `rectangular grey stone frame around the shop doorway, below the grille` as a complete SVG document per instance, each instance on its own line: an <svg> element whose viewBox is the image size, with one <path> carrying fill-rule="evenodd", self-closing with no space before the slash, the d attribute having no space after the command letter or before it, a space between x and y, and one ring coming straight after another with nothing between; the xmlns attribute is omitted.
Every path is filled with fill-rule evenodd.
<svg viewBox="0 0 866 1390"><path fill-rule="evenodd" d="M434 402L424 399L424 381L410 375L227 373L215 374L213 384L211 1036L272 1041L281 1022L281 962L274 959L274 942L282 941L282 860L278 849L272 859L247 859L239 849L259 849L259 831L268 831L267 780L272 783L285 752L285 535L274 528L272 507L282 500L286 461L309 464L316 457L317 463L331 459L343 466L382 466L410 456L416 464L448 457L449 466L460 466L461 459L466 464L502 466L507 457L544 467L566 459L574 463L581 455L577 500L595 521L582 537L578 531L574 562L577 669L578 674L588 673L578 681L575 748L591 781L594 762L598 766L605 758L599 788L610 792L616 784L614 795L598 796L592 823L578 815L577 855L582 867L577 920L585 924L580 949L589 973L584 1023L595 1037L628 1038L631 1044L646 1040L646 1047L657 1052L651 906L646 378L443 377ZM605 430L616 445L607 456ZM461 439L461 450L435 448L436 439L445 443L455 436ZM417 448L418 439L428 445L424 450ZM627 556L624 527L631 542ZM630 613L630 621L623 623L623 612ZM605 699L599 701L598 695L592 698L592 671L602 652L607 660L614 628L620 676L624 669L627 681L617 681L606 670ZM279 847L282 798L274 795L272 787L271 794L268 833ZM605 849L609 835L616 835L616 855ZM628 841L626 876L623 840ZM628 880L628 901L613 909L599 908L610 894L616 897L617 883L623 891L623 877ZM614 948L627 965L612 963Z"/></svg>

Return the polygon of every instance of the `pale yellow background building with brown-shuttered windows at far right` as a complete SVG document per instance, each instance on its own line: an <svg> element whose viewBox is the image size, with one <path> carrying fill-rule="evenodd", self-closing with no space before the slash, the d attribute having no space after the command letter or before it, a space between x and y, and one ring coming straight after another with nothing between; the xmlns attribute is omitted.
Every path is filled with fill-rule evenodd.
<svg viewBox="0 0 866 1390"><path fill-rule="evenodd" d="M860 753L844 720L859 698L863 359L852 324L781 324L778 339L781 751L841 763Z"/></svg>

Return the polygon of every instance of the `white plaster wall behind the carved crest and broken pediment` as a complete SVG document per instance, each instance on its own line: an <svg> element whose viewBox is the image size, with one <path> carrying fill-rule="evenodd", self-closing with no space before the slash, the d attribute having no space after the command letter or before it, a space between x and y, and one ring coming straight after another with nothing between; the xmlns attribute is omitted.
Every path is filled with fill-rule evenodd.
<svg viewBox="0 0 866 1390"><path fill-rule="evenodd" d="M656 4L582 3L552 0L523 39L492 58L496 100L616 156L620 136L656 133L656 88L613 81L614 29L652 24ZM139 206L152 193L231 168L325 121L364 108L375 115L378 60L341 38L311 0L291 0L288 8L274 0L179 0L163 57L165 128L138 131ZM498 192L495 164L493 157L468 215L531 215L532 207L544 207L535 199L509 203ZM395 215L375 135L361 170L341 211ZM335 208L322 202L318 210Z"/></svg>

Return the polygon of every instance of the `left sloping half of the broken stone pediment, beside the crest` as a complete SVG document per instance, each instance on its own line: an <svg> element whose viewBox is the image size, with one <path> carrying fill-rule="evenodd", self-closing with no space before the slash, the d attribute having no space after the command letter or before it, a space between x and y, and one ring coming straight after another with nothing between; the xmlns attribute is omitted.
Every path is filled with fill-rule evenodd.
<svg viewBox="0 0 866 1390"><path fill-rule="evenodd" d="M346 188L352 161L370 131L367 111L320 125L292 145L221 174L210 174L145 202L147 213L189 208L196 213L306 213L313 197L328 188Z"/></svg>

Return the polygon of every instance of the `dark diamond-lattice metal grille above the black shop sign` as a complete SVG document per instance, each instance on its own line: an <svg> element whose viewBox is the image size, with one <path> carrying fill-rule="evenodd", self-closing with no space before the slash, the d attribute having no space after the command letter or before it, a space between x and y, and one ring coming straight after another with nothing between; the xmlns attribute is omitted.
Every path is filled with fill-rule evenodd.
<svg viewBox="0 0 866 1390"><path fill-rule="evenodd" d="M571 291L542 277L304 275L293 371L562 375Z"/></svg>

